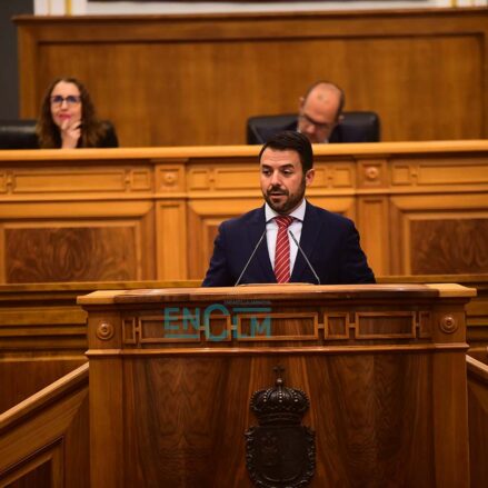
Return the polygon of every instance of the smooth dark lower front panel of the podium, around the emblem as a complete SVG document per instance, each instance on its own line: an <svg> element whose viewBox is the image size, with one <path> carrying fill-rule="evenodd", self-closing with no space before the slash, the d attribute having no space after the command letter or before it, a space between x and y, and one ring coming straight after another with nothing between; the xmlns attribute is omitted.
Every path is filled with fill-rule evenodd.
<svg viewBox="0 0 488 488"><path fill-rule="evenodd" d="M233 356L127 360L126 455L132 462L125 472L130 486L139 486L142 474L143 482L155 486L161 480L168 486L181 480L251 486L242 435L256 424L249 395L272 382L278 358ZM366 479L374 480L371 486L435 485L426 355L280 355L279 363L287 384L310 397L305 421L320 444L320 486L345 486L346 480L359 486L355 480Z"/></svg>

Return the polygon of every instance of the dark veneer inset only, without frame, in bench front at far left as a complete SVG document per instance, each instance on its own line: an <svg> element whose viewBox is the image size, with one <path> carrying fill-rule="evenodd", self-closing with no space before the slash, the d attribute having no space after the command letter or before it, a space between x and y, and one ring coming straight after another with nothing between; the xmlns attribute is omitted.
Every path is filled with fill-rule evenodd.
<svg viewBox="0 0 488 488"><path fill-rule="evenodd" d="M108 281L140 278L136 229L121 227L8 228L6 281Z"/></svg>

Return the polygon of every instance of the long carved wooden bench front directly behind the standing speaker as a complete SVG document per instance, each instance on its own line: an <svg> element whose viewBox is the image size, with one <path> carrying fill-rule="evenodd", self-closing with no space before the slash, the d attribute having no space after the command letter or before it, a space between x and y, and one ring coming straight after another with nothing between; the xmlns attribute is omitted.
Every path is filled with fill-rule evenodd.
<svg viewBox="0 0 488 488"><path fill-rule="evenodd" d="M262 205L246 146L0 152L0 282L201 279L218 225ZM376 275L487 273L488 142L315 147L312 203Z"/></svg>

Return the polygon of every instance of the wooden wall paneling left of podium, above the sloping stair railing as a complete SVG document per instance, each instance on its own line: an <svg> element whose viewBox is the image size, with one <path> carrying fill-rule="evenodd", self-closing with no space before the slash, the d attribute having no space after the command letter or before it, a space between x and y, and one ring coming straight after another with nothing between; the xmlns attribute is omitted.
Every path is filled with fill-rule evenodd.
<svg viewBox="0 0 488 488"><path fill-rule="evenodd" d="M86 320L59 287L1 287L0 412L86 362Z"/></svg>

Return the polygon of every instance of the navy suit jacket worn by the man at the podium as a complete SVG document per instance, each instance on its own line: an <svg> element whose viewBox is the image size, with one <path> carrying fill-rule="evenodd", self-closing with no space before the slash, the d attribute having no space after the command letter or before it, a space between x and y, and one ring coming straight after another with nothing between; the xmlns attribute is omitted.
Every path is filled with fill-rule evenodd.
<svg viewBox="0 0 488 488"><path fill-rule="evenodd" d="M265 207L222 222L203 287L231 287L245 269L266 229ZM374 283L351 220L307 202L300 247L321 285ZM290 281L317 283L307 261L297 253ZM266 238L249 263L240 283L276 283Z"/></svg>

